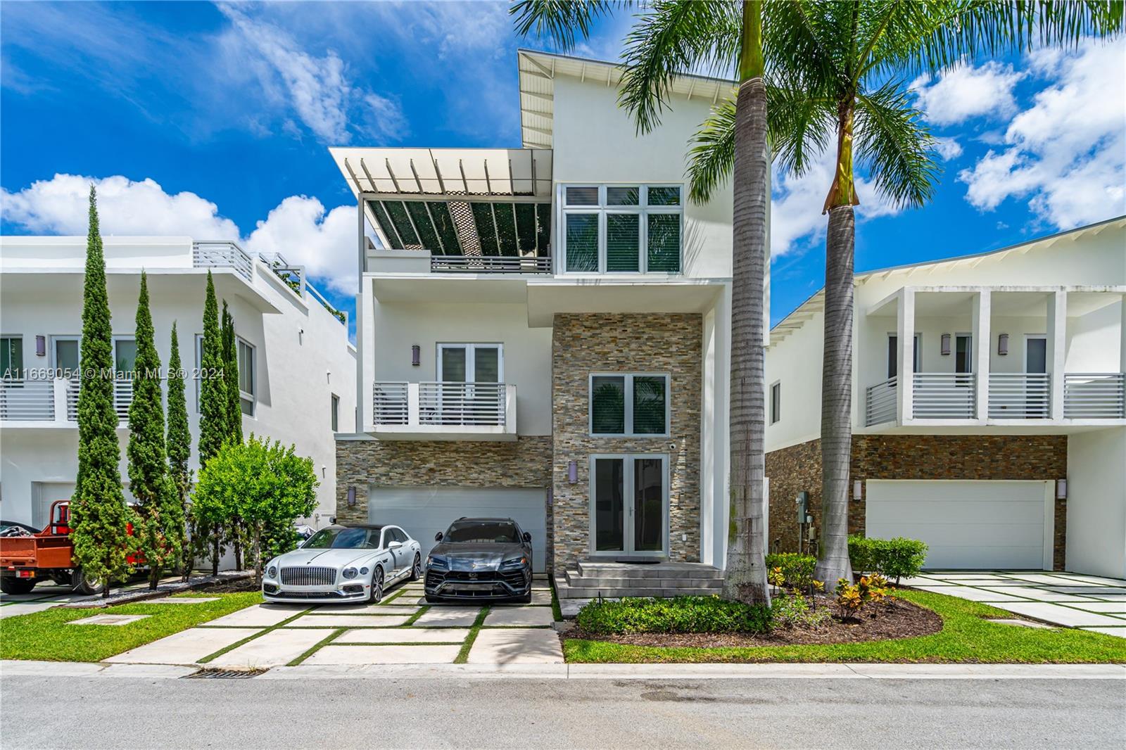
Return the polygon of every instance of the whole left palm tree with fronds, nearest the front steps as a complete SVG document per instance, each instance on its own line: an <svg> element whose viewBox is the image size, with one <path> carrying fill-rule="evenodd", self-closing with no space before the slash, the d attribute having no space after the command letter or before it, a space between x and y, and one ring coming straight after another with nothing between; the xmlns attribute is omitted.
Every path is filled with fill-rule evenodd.
<svg viewBox="0 0 1126 750"><path fill-rule="evenodd" d="M571 48L586 38L609 2L522 0L513 3L520 34L535 29ZM763 538L766 475L766 265L767 265L767 87L762 55L763 0L691 2L659 0L637 17L624 56L619 102L641 133L661 122L673 79L687 71L736 70L732 102L734 215L731 300L731 532L723 596L770 602ZM709 196L694 184L697 203Z"/></svg>

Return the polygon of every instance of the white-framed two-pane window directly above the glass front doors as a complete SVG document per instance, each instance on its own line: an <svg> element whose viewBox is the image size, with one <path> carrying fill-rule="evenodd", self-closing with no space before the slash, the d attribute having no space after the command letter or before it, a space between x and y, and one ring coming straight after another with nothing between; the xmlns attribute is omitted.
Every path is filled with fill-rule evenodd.
<svg viewBox="0 0 1126 750"><path fill-rule="evenodd" d="M668 437L668 374L591 373L589 393L591 436Z"/></svg>

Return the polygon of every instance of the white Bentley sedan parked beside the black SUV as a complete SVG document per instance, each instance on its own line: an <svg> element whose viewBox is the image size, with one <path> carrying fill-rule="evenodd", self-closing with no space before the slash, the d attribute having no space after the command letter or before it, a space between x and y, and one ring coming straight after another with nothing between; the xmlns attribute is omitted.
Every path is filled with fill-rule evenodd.
<svg viewBox="0 0 1126 750"><path fill-rule="evenodd" d="M262 597L293 604L374 604L404 578L422 578L421 548L406 532L397 526L328 526L266 565Z"/></svg>

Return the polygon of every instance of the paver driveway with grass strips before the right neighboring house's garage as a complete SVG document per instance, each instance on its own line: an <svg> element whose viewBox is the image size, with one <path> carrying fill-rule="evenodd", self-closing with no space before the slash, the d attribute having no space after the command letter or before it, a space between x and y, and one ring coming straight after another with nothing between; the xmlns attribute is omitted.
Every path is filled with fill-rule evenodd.
<svg viewBox="0 0 1126 750"><path fill-rule="evenodd" d="M1126 580L1019 571L927 571L904 586L981 601L1054 625L1126 639Z"/></svg>

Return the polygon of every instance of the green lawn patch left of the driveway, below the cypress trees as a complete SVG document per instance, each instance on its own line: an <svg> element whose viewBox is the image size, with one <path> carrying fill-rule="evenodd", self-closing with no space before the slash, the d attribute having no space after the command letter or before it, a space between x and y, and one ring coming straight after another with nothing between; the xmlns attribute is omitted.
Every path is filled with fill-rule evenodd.
<svg viewBox="0 0 1126 750"><path fill-rule="evenodd" d="M106 609L53 607L0 620L0 659L101 661L262 600L258 591L200 593L217 601L193 605L128 604ZM92 615L151 615L127 625L68 625Z"/></svg>

